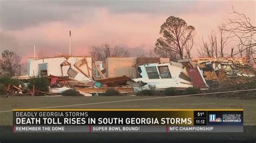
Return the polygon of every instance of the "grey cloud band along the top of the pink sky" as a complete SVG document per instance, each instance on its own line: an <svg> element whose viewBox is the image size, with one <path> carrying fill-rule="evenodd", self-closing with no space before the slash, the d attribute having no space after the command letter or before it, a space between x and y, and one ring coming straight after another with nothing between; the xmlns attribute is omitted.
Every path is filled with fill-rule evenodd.
<svg viewBox="0 0 256 143"><path fill-rule="evenodd" d="M49 22L65 22L71 25L89 22L95 11L106 9L114 15L127 13L178 15L182 13L211 13L223 8L223 4L205 2L168 1L1 1L0 26L5 30L21 30Z"/></svg>

